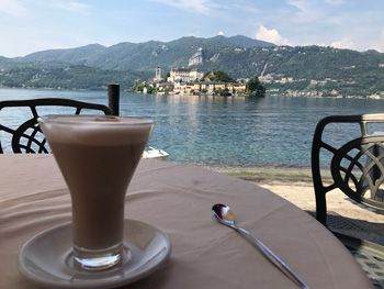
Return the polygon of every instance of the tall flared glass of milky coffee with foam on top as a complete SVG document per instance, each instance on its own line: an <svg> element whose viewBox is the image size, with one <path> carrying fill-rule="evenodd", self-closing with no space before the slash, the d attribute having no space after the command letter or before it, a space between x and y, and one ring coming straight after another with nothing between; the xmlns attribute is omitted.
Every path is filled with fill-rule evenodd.
<svg viewBox="0 0 384 289"><path fill-rule="evenodd" d="M155 122L112 115L47 115L42 131L72 200L75 264L121 262L124 199Z"/></svg>

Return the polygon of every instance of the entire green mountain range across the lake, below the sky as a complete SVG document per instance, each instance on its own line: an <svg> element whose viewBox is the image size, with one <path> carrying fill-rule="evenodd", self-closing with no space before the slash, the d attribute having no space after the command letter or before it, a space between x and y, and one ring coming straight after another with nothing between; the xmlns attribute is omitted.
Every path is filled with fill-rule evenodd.
<svg viewBox="0 0 384 289"><path fill-rule="evenodd" d="M14 79L23 69L35 69L33 74L46 74L45 78L49 78L49 74L56 75L52 77L53 82L55 79L60 82L60 74L66 75L66 82L56 84L60 87L70 87L75 82L71 77L76 75L76 88L100 88L105 82L98 81L111 78L115 78L111 80L113 82L124 81L124 88L128 88L133 86L135 77L142 80L153 78L156 67L161 68L162 76L180 67L222 70L233 78L258 76L269 91L275 93L304 91L318 96L366 96L384 91L382 53L320 46L275 46L241 35L211 38L190 36L167 43L126 42L110 47L91 44L71 49L37 52L12 59L0 57L0 85L9 86L7 80ZM12 69L13 74L10 74ZM19 69L19 73L14 69ZM24 86L34 87L43 82L42 78L29 80L27 77L33 77L33 74L26 74L23 78ZM99 80L89 85L93 82L92 78ZM81 79L88 85L81 86ZM16 84L13 81L14 86Z"/></svg>

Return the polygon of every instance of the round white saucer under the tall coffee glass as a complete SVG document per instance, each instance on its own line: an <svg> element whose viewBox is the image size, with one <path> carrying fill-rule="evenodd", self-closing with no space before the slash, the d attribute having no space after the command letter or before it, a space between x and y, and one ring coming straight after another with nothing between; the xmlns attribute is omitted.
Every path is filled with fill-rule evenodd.
<svg viewBox="0 0 384 289"><path fill-rule="evenodd" d="M154 273L171 253L171 242L160 229L125 220L121 264L89 271L75 267L71 223L55 226L31 238L19 254L19 268L32 281L48 288L111 288Z"/></svg>

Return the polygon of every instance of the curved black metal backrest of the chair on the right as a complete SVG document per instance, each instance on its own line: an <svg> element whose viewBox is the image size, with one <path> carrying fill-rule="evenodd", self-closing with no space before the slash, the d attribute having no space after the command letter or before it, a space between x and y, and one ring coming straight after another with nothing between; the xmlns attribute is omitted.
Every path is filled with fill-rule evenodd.
<svg viewBox="0 0 384 289"><path fill-rule="evenodd" d="M345 124L349 125L348 130L341 127ZM371 126L376 130L374 125L380 124L384 124L384 113L335 115L318 122L312 146L312 175L316 219L324 225L327 220L326 193L334 189L340 189L354 201L384 213L384 126L382 132L371 132ZM328 135L328 130L335 127L338 129L337 136L335 132L330 133L334 137ZM353 127L354 133L349 131ZM327 162L321 158L324 155L328 156Z"/></svg>

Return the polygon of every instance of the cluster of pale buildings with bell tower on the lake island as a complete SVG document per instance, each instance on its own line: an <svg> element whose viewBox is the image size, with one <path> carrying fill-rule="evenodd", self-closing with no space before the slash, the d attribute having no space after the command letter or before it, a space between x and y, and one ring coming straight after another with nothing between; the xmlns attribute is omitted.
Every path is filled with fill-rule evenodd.
<svg viewBox="0 0 384 289"><path fill-rule="evenodd" d="M203 79L204 71L201 69L174 68L167 79L161 78L161 69L156 68L156 76L147 84L150 87L159 88L160 92L168 93L195 93L205 92L214 95L217 90L227 90L230 93L245 92L247 87L242 82L218 82Z"/></svg>

